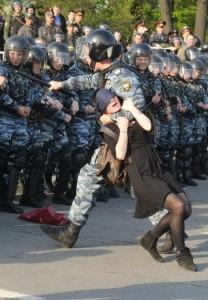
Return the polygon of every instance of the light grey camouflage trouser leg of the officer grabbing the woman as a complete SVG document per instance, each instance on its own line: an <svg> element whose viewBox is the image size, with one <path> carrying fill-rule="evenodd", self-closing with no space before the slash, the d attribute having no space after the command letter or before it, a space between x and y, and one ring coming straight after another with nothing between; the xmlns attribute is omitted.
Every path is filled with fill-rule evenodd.
<svg viewBox="0 0 208 300"><path fill-rule="evenodd" d="M69 220L78 226L86 222L90 210L95 205L95 192L103 180L102 176L97 176L99 151L100 148L95 150L90 163L80 170L78 176L76 197L69 211Z"/></svg>

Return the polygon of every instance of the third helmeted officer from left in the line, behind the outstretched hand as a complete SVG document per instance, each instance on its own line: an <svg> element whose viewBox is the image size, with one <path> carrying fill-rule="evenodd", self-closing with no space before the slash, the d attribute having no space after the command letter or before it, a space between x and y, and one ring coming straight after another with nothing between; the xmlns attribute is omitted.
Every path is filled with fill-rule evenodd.
<svg viewBox="0 0 208 300"><path fill-rule="evenodd" d="M63 43L52 42L47 47L47 53L49 65L49 69L47 71L48 77L50 80L65 80L67 78L67 68L70 64L68 47ZM73 111L73 106L77 105L76 94L72 92L57 93L51 91L48 95L58 99L62 103L62 111L65 111L66 116L68 116L68 122L70 122L71 109ZM64 122L57 122L56 119L52 120L50 118L51 125L48 125L51 127L51 132L53 132L53 134L50 141L45 178L47 180L49 178L49 174L52 175L53 172L58 168L58 172L56 172L53 201L59 204L68 203L64 194L67 191L67 184L69 182L71 168L71 146L66 133L66 123L66 118L64 118Z"/></svg>

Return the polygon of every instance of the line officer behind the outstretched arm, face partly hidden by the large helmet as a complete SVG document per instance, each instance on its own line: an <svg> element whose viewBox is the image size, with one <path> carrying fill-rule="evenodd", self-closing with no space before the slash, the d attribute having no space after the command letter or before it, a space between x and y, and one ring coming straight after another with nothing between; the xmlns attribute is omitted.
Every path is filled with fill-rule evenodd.
<svg viewBox="0 0 208 300"><path fill-rule="evenodd" d="M78 40L77 40L78 41ZM68 77L92 74L82 52L85 44L76 46L75 64L68 70ZM79 111L74 115L72 122L67 126L68 137L72 148L72 176L69 197L73 200L76 195L76 182L79 170L90 160L91 153L100 144L98 123L94 106L94 89L77 91Z"/></svg>

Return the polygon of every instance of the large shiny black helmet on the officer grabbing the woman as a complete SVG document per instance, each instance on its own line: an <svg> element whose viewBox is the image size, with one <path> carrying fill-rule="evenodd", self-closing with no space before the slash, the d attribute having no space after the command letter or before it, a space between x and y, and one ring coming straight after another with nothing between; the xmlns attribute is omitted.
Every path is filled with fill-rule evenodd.
<svg viewBox="0 0 208 300"><path fill-rule="evenodd" d="M86 45L89 47L88 55L94 62L115 58L114 50L117 43L113 34L108 30L93 30L87 36Z"/></svg>

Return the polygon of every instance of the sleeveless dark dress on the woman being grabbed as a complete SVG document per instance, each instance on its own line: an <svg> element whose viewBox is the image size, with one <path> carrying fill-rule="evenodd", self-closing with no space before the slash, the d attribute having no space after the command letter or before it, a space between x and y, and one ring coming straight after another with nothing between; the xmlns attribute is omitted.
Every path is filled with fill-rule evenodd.
<svg viewBox="0 0 208 300"><path fill-rule="evenodd" d="M108 125L119 133L115 124ZM104 135L104 140L115 153L116 142ZM146 218L163 208L170 193L184 193L173 176L166 172L152 144L153 135L135 123L128 130L128 151L130 163L127 171L136 196L136 218Z"/></svg>

